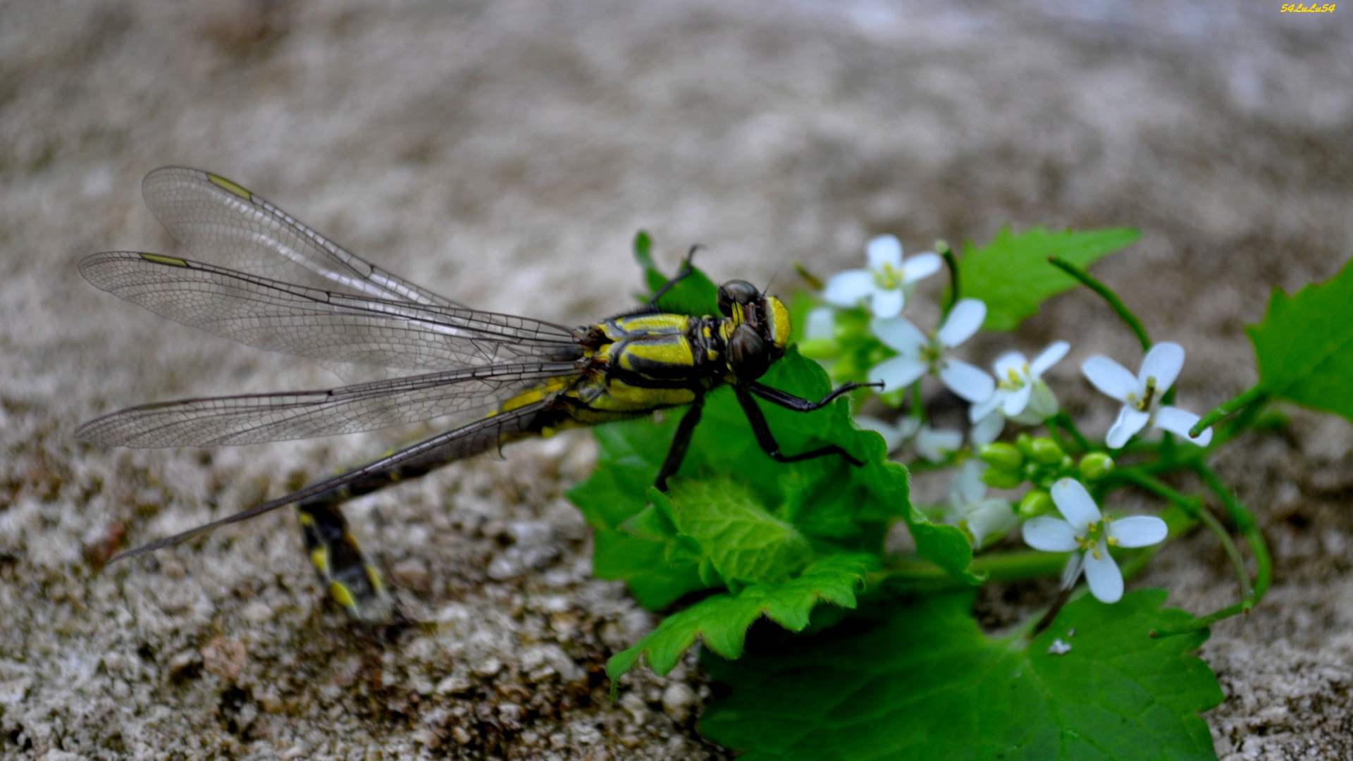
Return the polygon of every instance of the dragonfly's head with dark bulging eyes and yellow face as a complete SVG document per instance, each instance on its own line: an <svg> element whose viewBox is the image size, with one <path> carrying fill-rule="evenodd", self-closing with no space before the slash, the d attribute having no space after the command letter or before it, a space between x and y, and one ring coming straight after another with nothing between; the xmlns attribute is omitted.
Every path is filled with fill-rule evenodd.
<svg viewBox="0 0 1353 761"><path fill-rule="evenodd" d="M789 310L746 280L718 287L718 311L728 318L728 368L743 380L766 374L789 344Z"/></svg>

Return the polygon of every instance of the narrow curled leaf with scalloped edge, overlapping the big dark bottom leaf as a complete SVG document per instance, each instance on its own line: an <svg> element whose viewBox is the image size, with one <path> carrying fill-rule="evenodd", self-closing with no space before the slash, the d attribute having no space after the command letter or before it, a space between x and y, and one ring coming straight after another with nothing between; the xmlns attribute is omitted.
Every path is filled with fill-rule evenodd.
<svg viewBox="0 0 1353 761"><path fill-rule="evenodd" d="M747 628L762 616L790 631L802 631L817 603L854 608L855 592L877 565L871 555L831 555L808 566L793 581L754 584L737 594L706 597L667 616L648 636L613 655L606 664L606 674L614 682L641 657L653 672L666 674L695 638L725 658L737 658L743 654Z"/></svg>

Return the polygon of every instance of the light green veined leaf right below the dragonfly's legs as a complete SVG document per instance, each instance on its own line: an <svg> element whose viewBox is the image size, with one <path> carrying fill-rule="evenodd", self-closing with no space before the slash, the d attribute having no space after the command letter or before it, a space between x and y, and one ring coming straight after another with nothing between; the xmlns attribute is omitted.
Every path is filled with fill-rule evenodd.
<svg viewBox="0 0 1353 761"><path fill-rule="evenodd" d="M672 479L671 512L676 531L700 544L727 581L782 582L812 555L798 529L766 512L748 487L728 478Z"/></svg>

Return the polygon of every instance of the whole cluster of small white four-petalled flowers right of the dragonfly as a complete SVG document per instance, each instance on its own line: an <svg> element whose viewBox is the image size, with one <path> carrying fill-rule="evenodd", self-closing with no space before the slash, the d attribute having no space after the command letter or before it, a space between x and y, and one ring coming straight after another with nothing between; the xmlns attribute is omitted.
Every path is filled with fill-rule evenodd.
<svg viewBox="0 0 1353 761"><path fill-rule="evenodd" d="M1032 362L1017 351L1003 353L992 366L993 376L951 356L986 320L986 305L980 299L958 299L928 333L902 317L915 283L943 267L939 255L925 252L904 257L896 237L879 236L869 242L867 257L867 268L840 272L825 283L821 297L829 306L809 313L806 339L831 340L836 328L835 310L865 309L870 316L873 337L894 352L894 356L867 371L870 382L882 385L881 394L900 398L907 389L919 389L916 385L930 375L969 402L971 427L966 437L970 451L963 450L962 431L935 429L924 422L921 399L915 391L911 399L915 414L897 422L858 416L856 422L882 435L889 452L911 443L917 456L928 462L957 464L944 520L961 527L973 547L981 548L1017 527L1022 510L1004 498L988 497L982 477L988 464L973 455L982 445L996 441L1007 421L1040 425L1058 414L1057 395L1043 380L1043 374L1068 355L1070 344L1055 341ZM1120 450L1147 425L1196 445L1211 443L1211 428L1197 437L1189 436L1189 428L1199 421L1196 414L1162 404L1183 367L1184 348L1170 343L1154 345L1137 374L1101 355L1081 364L1081 372L1096 389L1123 404L1105 437L1109 450ZM1051 477L1045 485L1050 482ZM1046 501L1049 494L1062 519L1030 517L1023 524L1024 542L1036 550L1069 552L1063 585L1069 588L1085 574L1095 597L1116 603L1123 596L1123 575L1108 548L1155 544L1168 534L1165 521L1154 516L1104 517L1091 493L1076 478L1059 478L1042 498Z"/></svg>

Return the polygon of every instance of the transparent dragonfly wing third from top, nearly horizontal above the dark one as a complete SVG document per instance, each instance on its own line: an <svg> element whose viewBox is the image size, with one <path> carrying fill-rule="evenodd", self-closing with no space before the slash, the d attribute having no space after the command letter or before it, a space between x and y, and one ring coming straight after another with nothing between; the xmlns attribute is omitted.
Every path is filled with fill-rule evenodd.
<svg viewBox="0 0 1353 761"><path fill-rule="evenodd" d="M482 418L503 402L549 399L580 374L571 362L501 364L318 391L180 399L129 408L76 431L119 447L216 447L373 431L452 416ZM537 391L532 395L533 391Z"/></svg>

